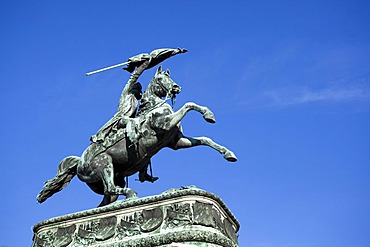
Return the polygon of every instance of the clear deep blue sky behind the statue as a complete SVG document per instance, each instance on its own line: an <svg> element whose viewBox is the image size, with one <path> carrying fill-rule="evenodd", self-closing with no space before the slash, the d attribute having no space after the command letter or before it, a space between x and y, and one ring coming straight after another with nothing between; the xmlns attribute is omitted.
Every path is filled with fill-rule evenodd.
<svg viewBox="0 0 370 247"><path fill-rule="evenodd" d="M60 160L80 155L129 74L88 71L162 47L183 120L238 156L162 150L139 196L196 185L241 223L241 247L370 246L368 1L1 1L0 246L30 246L39 221L95 207L76 177L43 204ZM144 87L155 70L146 71Z"/></svg>

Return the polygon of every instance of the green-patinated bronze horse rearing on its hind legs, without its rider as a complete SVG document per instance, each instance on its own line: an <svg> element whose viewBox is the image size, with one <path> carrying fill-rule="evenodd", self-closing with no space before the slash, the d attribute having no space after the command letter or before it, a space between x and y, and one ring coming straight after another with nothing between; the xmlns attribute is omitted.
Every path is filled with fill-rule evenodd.
<svg viewBox="0 0 370 247"><path fill-rule="evenodd" d="M150 158L164 147L177 150L205 145L217 150L226 160L236 161L232 151L208 137L184 136L180 121L189 111L201 113L209 123L215 123L215 118L207 107L192 102L174 112L163 98L174 97L180 91L169 70L162 71L159 66L141 99L138 116L122 118L123 127L108 136L104 145L92 143L81 157L64 158L56 176L45 182L37 201L42 203L62 190L76 174L94 192L104 195L99 206L116 201L118 195L136 197L134 190L124 188L125 177L145 169Z"/></svg>

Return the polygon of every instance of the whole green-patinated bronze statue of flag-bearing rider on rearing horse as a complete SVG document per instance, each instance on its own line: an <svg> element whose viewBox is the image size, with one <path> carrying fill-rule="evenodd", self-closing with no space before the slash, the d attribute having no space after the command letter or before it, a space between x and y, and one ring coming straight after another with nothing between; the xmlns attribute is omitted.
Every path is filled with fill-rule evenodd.
<svg viewBox="0 0 370 247"><path fill-rule="evenodd" d="M81 157L68 156L60 162L55 177L47 180L37 195L39 203L66 187L75 175L94 192L104 195L98 207L116 201L119 195L137 197L136 191L125 187L125 178L139 173L141 182L156 181L158 177L148 174L147 170L151 166L151 157L164 147L177 150L205 145L218 151L227 161L237 161L232 151L212 139L183 134L181 120L189 111L201 113L209 123L216 120L207 107L193 102L184 104L178 111L173 110L167 100L174 102L181 87L171 79L169 70L163 71L158 66L144 94L141 91L137 80L145 70L185 52L187 50L181 48L157 49L122 63L127 65L124 69L131 76L122 91L117 113L90 138L91 144ZM86 75L113 67L118 65Z"/></svg>

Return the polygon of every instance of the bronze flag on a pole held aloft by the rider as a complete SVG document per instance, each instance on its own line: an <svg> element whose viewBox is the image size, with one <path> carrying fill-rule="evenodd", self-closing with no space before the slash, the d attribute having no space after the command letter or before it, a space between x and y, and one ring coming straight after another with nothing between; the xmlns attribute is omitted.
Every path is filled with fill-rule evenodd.
<svg viewBox="0 0 370 247"><path fill-rule="evenodd" d="M180 54L180 53L186 53L187 51L188 50L183 49L183 48L156 49L156 50L152 51L150 54L142 53L142 54L139 54L139 55L136 55L136 56L133 56L133 57L129 58L127 62L119 63L119 64L116 64L116 65L112 65L112 66L102 68L102 69L98 69L98 70L94 70L94 71L86 73L85 75L89 76L89 75L96 74L96 73L99 73L99 72L103 72L103 71L106 71L106 70L109 70L109 69L114 69L114 68L117 68L117 67L121 67L123 65L127 65L127 67L123 68L123 69L132 73L135 70L136 67L138 67L140 64L142 64L148 58L151 58L151 60L150 60L150 63L148 65L147 69L152 68L153 66L159 64L160 62L163 62L165 59L167 59L169 57L172 57L172 56L174 56L176 54Z"/></svg>

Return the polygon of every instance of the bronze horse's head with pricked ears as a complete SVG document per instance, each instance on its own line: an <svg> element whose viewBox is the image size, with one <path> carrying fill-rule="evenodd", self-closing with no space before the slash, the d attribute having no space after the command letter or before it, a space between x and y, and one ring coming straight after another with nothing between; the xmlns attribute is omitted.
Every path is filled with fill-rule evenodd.
<svg viewBox="0 0 370 247"><path fill-rule="evenodd" d="M162 66L158 67L151 83L155 87L154 93L160 98L165 96L174 98L181 92L181 87L170 78L170 71L168 69L162 71Z"/></svg>

